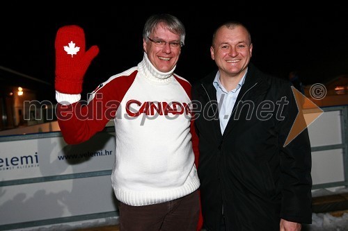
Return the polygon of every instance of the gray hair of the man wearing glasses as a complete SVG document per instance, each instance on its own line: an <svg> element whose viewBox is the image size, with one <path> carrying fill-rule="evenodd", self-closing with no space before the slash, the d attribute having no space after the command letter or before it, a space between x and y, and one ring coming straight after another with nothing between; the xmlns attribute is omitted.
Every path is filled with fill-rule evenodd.
<svg viewBox="0 0 348 231"><path fill-rule="evenodd" d="M148 36L152 33L155 28L163 23L164 26L171 31L171 33L175 33L175 35L180 35L180 42L184 44L185 41L185 27L182 22L177 19L177 17L168 14L158 14L152 15L146 20L145 26L143 29L143 39L148 41Z"/></svg>

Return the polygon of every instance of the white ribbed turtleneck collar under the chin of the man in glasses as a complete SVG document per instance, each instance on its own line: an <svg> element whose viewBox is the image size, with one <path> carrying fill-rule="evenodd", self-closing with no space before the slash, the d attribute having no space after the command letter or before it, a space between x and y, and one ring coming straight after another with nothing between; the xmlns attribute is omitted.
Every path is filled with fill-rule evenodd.
<svg viewBox="0 0 348 231"><path fill-rule="evenodd" d="M173 72L175 70L175 67L171 69L171 71L168 72L161 72L158 71L150 62L148 59L148 54L144 52L144 58L141 62L139 62L138 65L138 71L141 72L145 78L148 78L148 80L157 82L157 83L168 83L173 80Z"/></svg>

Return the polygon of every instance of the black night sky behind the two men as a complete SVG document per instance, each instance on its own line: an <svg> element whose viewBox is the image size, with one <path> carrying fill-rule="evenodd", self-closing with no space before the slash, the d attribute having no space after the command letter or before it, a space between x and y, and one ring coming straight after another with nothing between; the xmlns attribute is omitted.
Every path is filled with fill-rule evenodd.
<svg viewBox="0 0 348 231"><path fill-rule="evenodd" d="M304 84L324 83L348 74L348 14L345 8L313 6L310 10L292 6L266 5L197 7L95 7L95 12L38 13L28 11L12 20L1 19L0 66L51 83L35 83L44 97L54 97L54 39L59 27L78 24L86 33L86 47L97 44L100 53L88 69L84 92L138 64L143 58L142 30L149 15L169 12L185 25L187 37L175 73L191 82L215 67L210 58L212 32L227 20L248 26L253 40L251 61L262 71L287 78L297 70ZM209 9L208 9L209 8ZM100 10L103 9L103 10ZM106 10L107 9L107 10ZM149 10L152 9L152 10ZM1 83L12 83L15 76L0 71ZM8 82L7 82L8 81ZM19 84L19 83L18 83Z"/></svg>

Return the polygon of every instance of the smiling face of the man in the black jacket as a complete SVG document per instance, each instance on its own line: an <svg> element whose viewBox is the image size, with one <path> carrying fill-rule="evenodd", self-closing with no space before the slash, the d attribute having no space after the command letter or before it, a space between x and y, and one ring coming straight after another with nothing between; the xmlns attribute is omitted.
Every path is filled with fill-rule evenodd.
<svg viewBox="0 0 348 231"><path fill-rule="evenodd" d="M253 44L244 26L222 26L216 31L210 47L210 55L219 67L222 77L242 78L251 60L252 51Z"/></svg>

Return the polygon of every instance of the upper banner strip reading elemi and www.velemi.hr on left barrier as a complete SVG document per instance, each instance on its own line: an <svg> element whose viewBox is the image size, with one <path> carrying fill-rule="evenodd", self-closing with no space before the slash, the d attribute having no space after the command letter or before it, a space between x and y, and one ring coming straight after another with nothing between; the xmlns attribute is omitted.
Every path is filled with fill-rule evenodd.
<svg viewBox="0 0 348 231"><path fill-rule="evenodd" d="M111 170L115 138L100 132L87 142L68 145L63 137L0 143L1 180L18 180Z"/></svg>

